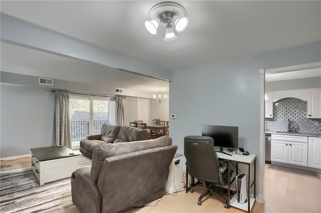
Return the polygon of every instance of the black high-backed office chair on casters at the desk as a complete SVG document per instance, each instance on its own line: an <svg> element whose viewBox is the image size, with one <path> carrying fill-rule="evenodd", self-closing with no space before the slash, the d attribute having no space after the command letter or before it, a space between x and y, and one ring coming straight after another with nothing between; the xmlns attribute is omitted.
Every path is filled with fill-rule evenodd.
<svg viewBox="0 0 321 213"><path fill-rule="evenodd" d="M214 149L214 140L208 136L186 136L184 138L184 155L186 157L186 193L188 192L188 175L197 178L208 187L201 194L197 204L202 204L202 199L209 193L212 195L215 186L224 186L228 183L227 165L221 166ZM232 172L232 171L231 171ZM192 186L192 185L191 185ZM193 192L191 187L190 192ZM227 199L217 192L224 200L224 207L228 207Z"/></svg>

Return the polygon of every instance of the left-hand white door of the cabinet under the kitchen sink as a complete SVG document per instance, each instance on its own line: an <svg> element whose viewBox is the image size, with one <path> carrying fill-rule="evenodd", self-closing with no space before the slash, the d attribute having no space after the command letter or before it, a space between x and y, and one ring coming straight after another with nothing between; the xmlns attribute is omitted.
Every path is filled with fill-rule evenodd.
<svg viewBox="0 0 321 213"><path fill-rule="evenodd" d="M287 163L288 142L271 140L271 161Z"/></svg>

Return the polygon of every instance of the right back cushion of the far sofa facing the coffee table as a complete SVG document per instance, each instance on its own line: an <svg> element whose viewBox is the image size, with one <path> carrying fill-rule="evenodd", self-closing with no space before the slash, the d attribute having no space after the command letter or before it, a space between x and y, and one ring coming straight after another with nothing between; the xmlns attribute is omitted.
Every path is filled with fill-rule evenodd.
<svg viewBox="0 0 321 213"><path fill-rule="evenodd" d="M129 142L137 140L146 140L148 131L146 129L137 129L130 126L121 126L118 137L114 143Z"/></svg>

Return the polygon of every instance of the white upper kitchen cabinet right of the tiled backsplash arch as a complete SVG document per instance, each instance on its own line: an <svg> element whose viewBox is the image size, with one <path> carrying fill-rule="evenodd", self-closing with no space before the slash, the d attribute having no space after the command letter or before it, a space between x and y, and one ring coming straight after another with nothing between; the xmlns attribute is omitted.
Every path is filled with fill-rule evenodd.
<svg viewBox="0 0 321 213"><path fill-rule="evenodd" d="M308 90L307 118L321 118L321 89Z"/></svg>

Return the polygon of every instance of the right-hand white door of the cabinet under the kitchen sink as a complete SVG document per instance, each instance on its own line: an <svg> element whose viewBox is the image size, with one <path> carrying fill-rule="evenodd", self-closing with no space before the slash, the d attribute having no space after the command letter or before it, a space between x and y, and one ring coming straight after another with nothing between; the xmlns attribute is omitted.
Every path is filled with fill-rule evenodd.
<svg viewBox="0 0 321 213"><path fill-rule="evenodd" d="M307 143L288 141L288 163L307 166Z"/></svg>

